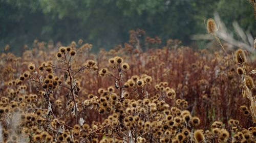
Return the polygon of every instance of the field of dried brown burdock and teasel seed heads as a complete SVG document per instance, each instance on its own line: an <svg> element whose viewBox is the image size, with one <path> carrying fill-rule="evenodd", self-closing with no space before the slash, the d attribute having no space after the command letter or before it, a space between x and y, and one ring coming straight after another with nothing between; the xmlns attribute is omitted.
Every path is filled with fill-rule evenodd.
<svg viewBox="0 0 256 143"><path fill-rule="evenodd" d="M97 54L81 39L35 40L20 57L7 45L0 142L255 142L252 53L173 39L160 47L144 34L130 31L128 43Z"/></svg>

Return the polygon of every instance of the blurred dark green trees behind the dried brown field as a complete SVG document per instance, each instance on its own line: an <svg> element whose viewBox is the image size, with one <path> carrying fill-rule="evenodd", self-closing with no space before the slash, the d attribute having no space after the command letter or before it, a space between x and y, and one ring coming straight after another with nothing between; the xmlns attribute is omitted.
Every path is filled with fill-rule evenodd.
<svg viewBox="0 0 256 143"><path fill-rule="evenodd" d="M235 31L237 21L256 35L248 0L0 0L0 47L2 52L9 44L10 51L20 53L35 39L67 45L81 38L97 52L129 41L129 31L141 28L163 45L172 38L204 48L209 41L192 37L206 34L204 23L215 12L228 32Z"/></svg>

